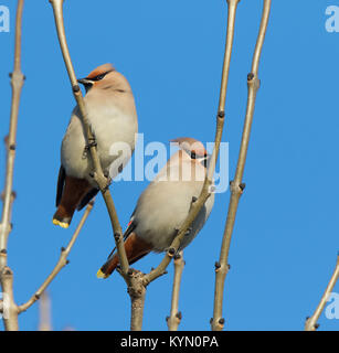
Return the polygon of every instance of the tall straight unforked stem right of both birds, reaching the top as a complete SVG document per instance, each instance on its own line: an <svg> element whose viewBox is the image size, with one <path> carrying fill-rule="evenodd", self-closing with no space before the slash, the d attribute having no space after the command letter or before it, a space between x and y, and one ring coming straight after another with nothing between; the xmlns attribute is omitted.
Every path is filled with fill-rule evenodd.
<svg viewBox="0 0 339 353"><path fill-rule="evenodd" d="M226 274L229 271L229 252L232 232L234 227L237 204L240 196L242 195L245 184L242 182L246 154L250 141L251 127L253 121L253 114L255 107L255 98L257 89L259 88L259 79L257 77L258 74L258 64L261 58L261 53L263 49L263 43L265 39L265 33L267 29L268 18L271 11L271 0L264 0L263 6L263 14L261 21L259 33L253 55L252 62L252 72L247 75L247 87L248 87L248 96L247 96L247 108L246 108L246 117L243 129L241 149L237 160L237 167L235 171L234 180L231 182L231 201L229 205L226 225L223 235L223 242L220 252L219 263L215 264L215 289L214 289L214 310L213 310L213 319L211 320L211 327L213 331L221 331L224 327L224 319L222 318L222 307L223 307L223 291L224 291L224 281Z"/></svg>

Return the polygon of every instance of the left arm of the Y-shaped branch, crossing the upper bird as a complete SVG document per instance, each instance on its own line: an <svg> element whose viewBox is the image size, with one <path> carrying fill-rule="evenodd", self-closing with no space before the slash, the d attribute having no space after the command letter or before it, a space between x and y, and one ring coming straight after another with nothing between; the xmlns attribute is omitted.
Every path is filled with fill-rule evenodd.
<svg viewBox="0 0 339 353"><path fill-rule="evenodd" d="M99 158L97 154L96 146L95 146L96 143L93 143L95 141L95 137L91 130L91 125L89 125L87 111L86 111L86 108L84 105L83 95L82 95L82 92L81 92L80 86L77 84L77 79L76 79L76 76L74 73L74 68L73 68L73 64L72 64L67 42L66 42L64 20L63 20L63 2L64 1L63 0L50 0L50 2L53 7L57 38L59 38L60 46L62 50L63 58L64 58L64 62L66 65L66 69L67 69L68 76L70 76L73 94L74 94L74 97L76 99L76 103L78 105L78 108L80 108L80 111L82 115L82 124L83 124L84 131L85 131L85 139L87 141L87 145L89 146L89 152L91 152L91 158L92 158L92 162L93 162L94 179L97 182L98 188L100 189L100 192L103 194L103 197L104 197L106 206L107 206L112 227L114 231L114 238L116 242L116 247L117 247L117 252L118 252L118 256L119 256L119 263L121 265L121 271L123 271L124 276L126 276L126 274L128 272L128 269L129 269L129 264L128 264L128 259L127 259L125 247L124 247L121 226L118 221L118 215L117 215L115 204L112 199L109 189L107 188L108 180L104 175L104 172L103 172L103 169L100 165L100 161L99 161ZM92 142L92 143L88 143L88 142Z"/></svg>

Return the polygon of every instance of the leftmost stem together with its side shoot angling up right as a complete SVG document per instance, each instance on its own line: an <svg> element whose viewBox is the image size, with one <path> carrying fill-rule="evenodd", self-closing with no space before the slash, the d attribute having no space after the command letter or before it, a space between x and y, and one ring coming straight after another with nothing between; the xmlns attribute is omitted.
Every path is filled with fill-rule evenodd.
<svg viewBox="0 0 339 353"><path fill-rule="evenodd" d="M4 329L7 331L18 331L18 315L20 312L27 310L33 302L35 302L43 293L47 285L53 280L60 269L66 264L66 256L70 254L72 246L92 208L92 204L86 210L80 226L73 235L68 246L64 249L61 259L43 284L43 286L36 291L32 299L18 307L14 301L13 295L13 271L7 266L7 244L8 237L11 232L11 217L12 217L12 204L15 197L13 192L13 171L14 171L14 159L15 159L15 147L17 147L17 128L18 128L18 115L21 89L24 82L24 76L21 73L21 22L23 11L23 0L18 1L17 8L17 21L15 21L15 50L14 50L14 71L10 74L11 86L12 86L12 103L11 103L11 116L10 116L10 131L6 138L7 147L7 170L6 170L6 185L4 192L2 193L3 208L0 223L0 284L2 288L3 299L0 301L0 312L3 315Z"/></svg>

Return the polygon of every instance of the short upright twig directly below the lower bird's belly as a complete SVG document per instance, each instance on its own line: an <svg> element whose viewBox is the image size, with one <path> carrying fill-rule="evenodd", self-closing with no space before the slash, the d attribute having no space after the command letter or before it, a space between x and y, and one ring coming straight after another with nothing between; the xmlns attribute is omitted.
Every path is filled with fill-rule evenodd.
<svg viewBox="0 0 339 353"><path fill-rule="evenodd" d="M179 293L181 277L184 267L183 252L180 252L174 257L174 279L173 279L173 289L172 289L172 300L171 300L171 312L167 317L167 325L169 331L178 331L178 327L182 319L182 313L179 311Z"/></svg>

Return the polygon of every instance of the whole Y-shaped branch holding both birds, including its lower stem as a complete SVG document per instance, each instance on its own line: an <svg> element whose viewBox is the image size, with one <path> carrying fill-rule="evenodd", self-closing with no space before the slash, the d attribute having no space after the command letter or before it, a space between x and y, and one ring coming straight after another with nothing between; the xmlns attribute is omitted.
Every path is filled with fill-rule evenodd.
<svg viewBox="0 0 339 353"><path fill-rule="evenodd" d="M125 278L128 285L128 291L131 298L131 330L141 330L146 287L152 280L155 280L156 278L158 278L159 276L166 272L166 268L171 261L172 257L177 254L180 247L181 240L184 237L188 228L191 226L192 222L199 214L205 201L211 195L211 192L213 192L212 190L213 174L214 174L215 164L219 156L219 149L220 149L222 131L224 126L226 88L227 88L231 53L232 53L233 36L234 36L235 12L236 12L236 7L239 1L240 0L227 0L227 3L229 3L227 35L226 35L226 47L225 47L225 55L224 55L221 92L220 92L220 101L219 101L219 109L218 109L218 117L216 117L216 132L215 132L215 139L214 139L215 143L214 143L214 148L211 157L211 163L204 180L204 184L198 200L192 201L189 216L182 224L181 228L179 229L178 235L173 239L162 261L150 274L144 275L141 272L135 271L129 268L125 248L124 248L121 227L118 222L118 217L116 214L116 210L115 210L109 190L106 188L107 180L103 174L102 167L100 167L99 159L98 159L97 151L94 143L88 145L91 146L89 151L91 151L91 157L92 157L93 167L95 171L94 173L95 180L106 202L107 211L109 213L114 234L115 234L115 240L116 240L116 246L117 246L117 252L118 252L119 263L120 263L119 272ZM85 137L87 139L87 142L94 141L94 136L91 131L91 126L88 124L87 114L86 114L86 109L83 101L83 96L77 85L77 81L74 74L74 68L72 65L71 56L70 56L67 44L66 44L64 23L63 23L63 10L62 10L63 0L50 0L50 2L52 3L52 7L53 7L60 45L62 49L68 76L71 79L73 93L82 114L82 122L85 130Z"/></svg>

